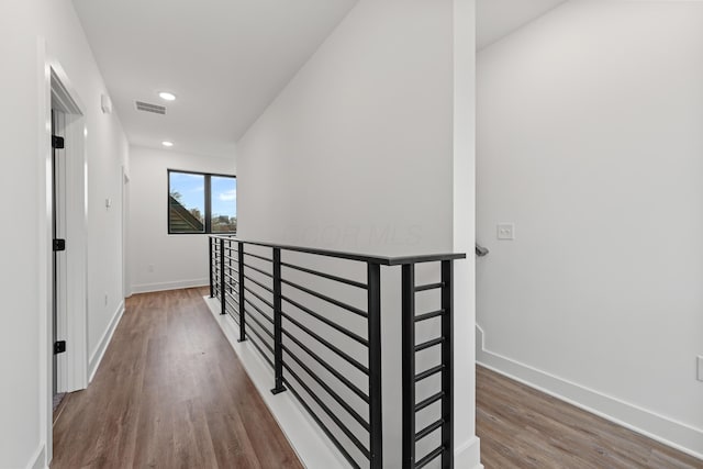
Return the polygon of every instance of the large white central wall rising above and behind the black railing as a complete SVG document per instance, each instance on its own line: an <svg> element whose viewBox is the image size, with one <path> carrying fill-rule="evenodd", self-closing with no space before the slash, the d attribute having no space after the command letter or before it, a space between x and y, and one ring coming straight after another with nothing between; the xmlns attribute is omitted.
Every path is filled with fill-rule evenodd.
<svg viewBox="0 0 703 469"><path fill-rule="evenodd" d="M466 4L472 15L473 2ZM241 237L384 255L450 252L453 51L450 0L361 0L239 141ZM464 77L470 107L470 66ZM462 149L470 171L469 139ZM457 200L472 200L472 179L465 182ZM397 277L383 282L386 292L399 292ZM464 304L457 315L472 317L472 298ZM384 379L398 379L398 298L383 308ZM469 349L472 340L472 333L457 334ZM457 369L469 390L470 361ZM388 467L399 465L394 384L384 384L392 393L383 409ZM457 440L466 449L473 401L461 409Z"/></svg>

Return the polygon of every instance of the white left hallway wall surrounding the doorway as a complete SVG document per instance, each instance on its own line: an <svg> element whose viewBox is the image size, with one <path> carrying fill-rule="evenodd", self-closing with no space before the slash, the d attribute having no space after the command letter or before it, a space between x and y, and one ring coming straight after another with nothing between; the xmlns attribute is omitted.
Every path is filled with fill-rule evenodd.
<svg viewBox="0 0 703 469"><path fill-rule="evenodd" d="M0 467L21 468L37 462L51 428L46 427L49 384L42 369L48 344L46 328L46 200L43 175L46 148L44 56L60 63L86 107L88 129L89 211L89 353L122 302L120 248L120 167L126 165L127 146L116 116L100 111L104 83L93 62L82 29L68 0L11 0L0 14L0 57L3 64L0 102L0 144L4 168L0 172L5 230L0 269L3 299L0 330ZM40 137L44 143L40 144ZM40 154L41 153L41 154ZM105 210L104 198L115 202ZM109 302L104 304L104 293Z"/></svg>

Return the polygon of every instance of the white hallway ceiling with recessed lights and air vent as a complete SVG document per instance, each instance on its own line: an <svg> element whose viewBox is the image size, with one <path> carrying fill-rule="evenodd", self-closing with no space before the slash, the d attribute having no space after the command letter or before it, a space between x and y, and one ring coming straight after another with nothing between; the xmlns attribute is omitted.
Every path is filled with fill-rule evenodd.
<svg viewBox="0 0 703 469"><path fill-rule="evenodd" d="M233 155L357 0L72 0L132 144ZM157 92L178 99L166 103ZM135 100L167 105L166 115Z"/></svg>

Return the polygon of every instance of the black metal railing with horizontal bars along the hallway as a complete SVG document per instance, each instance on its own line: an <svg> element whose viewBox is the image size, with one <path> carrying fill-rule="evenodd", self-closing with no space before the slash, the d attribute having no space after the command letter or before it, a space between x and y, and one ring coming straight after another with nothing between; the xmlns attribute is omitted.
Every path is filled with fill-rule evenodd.
<svg viewBox="0 0 703 469"><path fill-rule="evenodd" d="M271 392L290 391L355 468L383 467L381 266L401 266L402 467L422 468L437 458L443 468L454 467L453 265L464 254L365 256L228 236L211 236L209 250L210 295L237 323L239 342L249 340L271 367ZM353 279L303 266L295 256L304 255L361 263L366 272ZM440 278L417 286L415 267L427 263L440 266ZM305 284L311 278L319 282ZM439 292L438 309L417 314L417 293L432 291ZM419 343L416 326L433 319L439 335ZM439 362L419 371L417 354L436 349ZM425 386L433 377L439 378L436 390ZM420 401L419 386L429 390ZM429 407L438 409L437 417L417 428L416 416L424 412L426 421ZM422 443L433 434L438 443L428 448Z"/></svg>

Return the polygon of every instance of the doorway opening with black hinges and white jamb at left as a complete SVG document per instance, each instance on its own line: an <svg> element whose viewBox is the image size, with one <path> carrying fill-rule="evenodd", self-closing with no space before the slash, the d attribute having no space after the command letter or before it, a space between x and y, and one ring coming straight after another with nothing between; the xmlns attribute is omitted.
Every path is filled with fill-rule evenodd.
<svg viewBox="0 0 703 469"><path fill-rule="evenodd" d="M47 461L55 398L88 386L87 156L83 107L62 68L52 64L52 152L47 155ZM48 90L47 90L48 91ZM48 103L47 103L48 104ZM49 131L49 129L47 129Z"/></svg>

